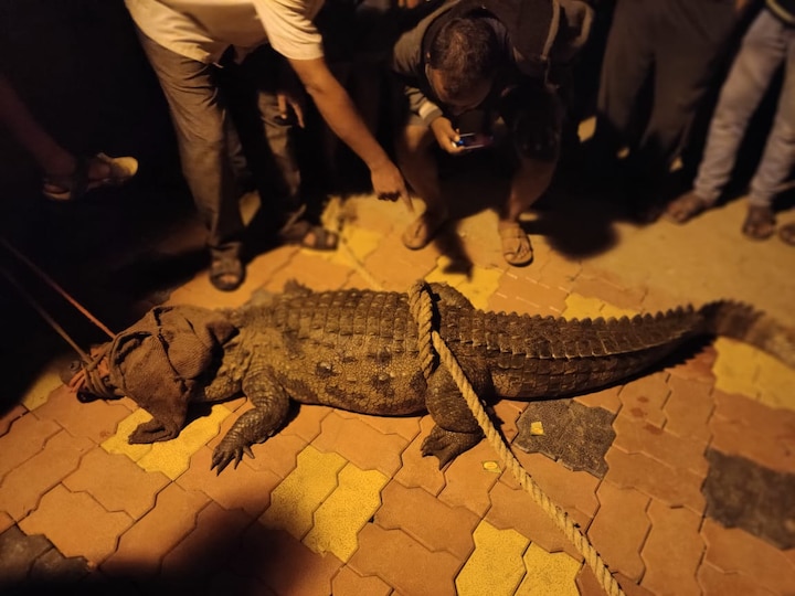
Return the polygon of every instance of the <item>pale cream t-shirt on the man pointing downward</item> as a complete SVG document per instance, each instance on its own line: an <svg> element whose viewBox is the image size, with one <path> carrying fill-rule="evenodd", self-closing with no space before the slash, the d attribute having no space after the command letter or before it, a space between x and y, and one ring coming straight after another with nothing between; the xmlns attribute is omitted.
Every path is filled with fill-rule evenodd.
<svg viewBox="0 0 795 596"><path fill-rule="evenodd" d="M125 0L149 39L182 56L218 62L234 46L242 58L271 43L294 60L324 55L312 19L324 0Z"/></svg>

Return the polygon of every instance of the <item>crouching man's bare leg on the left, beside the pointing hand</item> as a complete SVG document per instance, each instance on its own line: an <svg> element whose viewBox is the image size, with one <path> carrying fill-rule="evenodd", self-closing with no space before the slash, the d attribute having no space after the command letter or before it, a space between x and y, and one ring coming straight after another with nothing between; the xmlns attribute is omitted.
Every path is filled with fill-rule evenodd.
<svg viewBox="0 0 795 596"><path fill-rule="evenodd" d="M426 126L409 125L398 138L398 162L414 192L425 202L425 212L403 233L403 244L413 251L433 240L448 217L431 147L436 142Z"/></svg>

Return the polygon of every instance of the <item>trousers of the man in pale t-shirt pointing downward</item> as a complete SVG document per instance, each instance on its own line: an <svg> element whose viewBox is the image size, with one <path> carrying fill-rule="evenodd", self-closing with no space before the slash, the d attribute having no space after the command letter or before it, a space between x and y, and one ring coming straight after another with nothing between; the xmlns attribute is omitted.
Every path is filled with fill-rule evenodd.
<svg viewBox="0 0 795 596"><path fill-rule="evenodd" d="M240 182L247 173L246 160L218 83L219 66L177 54L140 30L138 36L169 105L182 174L206 225L206 244L210 247L237 244L244 228ZM263 134L288 194L297 196L300 175L295 148L289 127L278 120L275 82L272 83L272 88L263 85L257 89Z"/></svg>

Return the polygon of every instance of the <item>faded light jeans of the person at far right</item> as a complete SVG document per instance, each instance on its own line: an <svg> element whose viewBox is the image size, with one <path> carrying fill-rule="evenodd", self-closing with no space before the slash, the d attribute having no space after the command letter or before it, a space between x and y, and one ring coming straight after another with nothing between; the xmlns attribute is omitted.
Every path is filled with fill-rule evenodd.
<svg viewBox="0 0 795 596"><path fill-rule="evenodd" d="M710 124L693 183L696 194L706 201L714 203L729 182L749 121L782 63L784 85L773 128L751 181L749 204L771 206L777 187L795 164L795 29L765 9L743 38Z"/></svg>

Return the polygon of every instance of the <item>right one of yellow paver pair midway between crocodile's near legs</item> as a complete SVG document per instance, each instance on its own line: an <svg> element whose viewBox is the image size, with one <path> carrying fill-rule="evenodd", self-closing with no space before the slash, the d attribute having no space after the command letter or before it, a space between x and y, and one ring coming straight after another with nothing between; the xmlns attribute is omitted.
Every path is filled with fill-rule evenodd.
<svg viewBox="0 0 795 596"><path fill-rule="evenodd" d="M348 464L339 473L339 486L315 512L315 525L304 544L316 553L333 553L347 563L359 546L357 536L381 507L381 490L389 478L378 470L361 470Z"/></svg>

